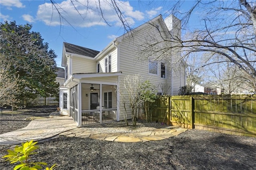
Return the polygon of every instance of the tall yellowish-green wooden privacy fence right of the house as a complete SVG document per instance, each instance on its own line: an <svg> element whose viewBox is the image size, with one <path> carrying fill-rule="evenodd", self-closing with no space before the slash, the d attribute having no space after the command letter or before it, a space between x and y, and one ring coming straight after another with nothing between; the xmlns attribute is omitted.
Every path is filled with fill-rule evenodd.
<svg viewBox="0 0 256 170"><path fill-rule="evenodd" d="M188 95L158 99L153 121L256 137L256 95Z"/></svg>

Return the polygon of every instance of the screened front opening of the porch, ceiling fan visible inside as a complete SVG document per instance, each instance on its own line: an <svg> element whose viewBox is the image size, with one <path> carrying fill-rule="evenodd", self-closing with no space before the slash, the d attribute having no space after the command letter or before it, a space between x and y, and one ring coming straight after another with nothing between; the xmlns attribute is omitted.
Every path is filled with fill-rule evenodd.
<svg viewBox="0 0 256 170"><path fill-rule="evenodd" d="M116 85L82 83L82 126L117 120Z"/></svg>

